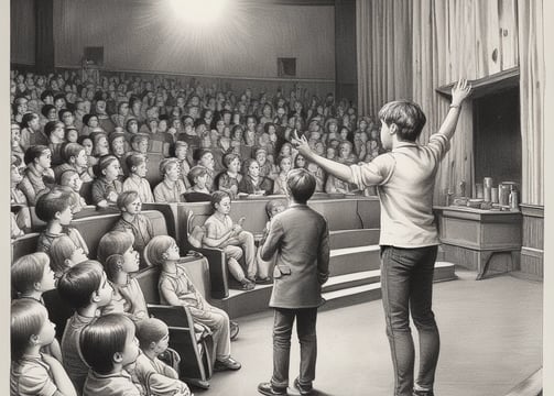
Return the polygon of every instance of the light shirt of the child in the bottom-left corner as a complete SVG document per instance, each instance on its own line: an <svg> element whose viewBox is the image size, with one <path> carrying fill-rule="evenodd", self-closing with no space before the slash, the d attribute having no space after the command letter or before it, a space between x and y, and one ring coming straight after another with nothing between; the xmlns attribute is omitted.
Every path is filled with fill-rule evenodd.
<svg viewBox="0 0 554 396"><path fill-rule="evenodd" d="M56 391L50 366L44 363L42 355L24 355L12 364L10 396L52 396Z"/></svg>

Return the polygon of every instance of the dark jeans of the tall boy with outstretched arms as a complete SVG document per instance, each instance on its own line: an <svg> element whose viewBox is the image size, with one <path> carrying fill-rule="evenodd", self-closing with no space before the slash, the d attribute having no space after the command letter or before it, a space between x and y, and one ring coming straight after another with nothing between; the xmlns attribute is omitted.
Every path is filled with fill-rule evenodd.
<svg viewBox="0 0 554 396"><path fill-rule="evenodd" d="M381 289L387 336L394 366L394 396L411 396L414 386L414 343L410 311L420 334L416 384L433 389L439 337L433 315L433 272L437 246L381 246Z"/></svg>

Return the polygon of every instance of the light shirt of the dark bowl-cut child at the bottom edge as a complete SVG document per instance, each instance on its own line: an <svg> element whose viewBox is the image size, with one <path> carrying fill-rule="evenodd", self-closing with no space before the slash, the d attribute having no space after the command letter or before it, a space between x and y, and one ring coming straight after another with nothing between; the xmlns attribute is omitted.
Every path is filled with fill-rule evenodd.
<svg viewBox="0 0 554 396"><path fill-rule="evenodd" d="M124 370L116 374L98 374L90 370L83 387L83 396L100 395L141 396L131 375Z"/></svg>

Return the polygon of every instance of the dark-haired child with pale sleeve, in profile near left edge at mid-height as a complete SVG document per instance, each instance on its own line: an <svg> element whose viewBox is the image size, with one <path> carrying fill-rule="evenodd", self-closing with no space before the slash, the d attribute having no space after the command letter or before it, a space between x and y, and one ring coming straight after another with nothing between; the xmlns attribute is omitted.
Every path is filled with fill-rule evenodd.
<svg viewBox="0 0 554 396"><path fill-rule="evenodd" d="M69 237L76 246L82 248L88 254L88 248L80 232L69 227L73 220L74 200L72 193L59 188L41 196L36 201L36 217L46 222L46 229L39 235L36 250L50 252L52 242L62 235Z"/></svg>

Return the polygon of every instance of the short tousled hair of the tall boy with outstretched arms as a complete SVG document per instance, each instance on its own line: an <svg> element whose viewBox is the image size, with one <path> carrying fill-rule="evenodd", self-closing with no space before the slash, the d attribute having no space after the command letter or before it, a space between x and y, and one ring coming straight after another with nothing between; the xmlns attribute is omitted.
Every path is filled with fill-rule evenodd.
<svg viewBox="0 0 554 396"><path fill-rule="evenodd" d="M394 100L385 103L379 110L379 119L387 125L398 127L400 140L415 142L427 119L421 107L410 100Z"/></svg>

